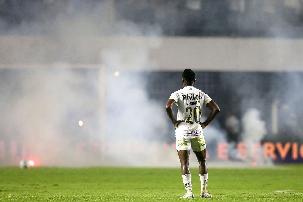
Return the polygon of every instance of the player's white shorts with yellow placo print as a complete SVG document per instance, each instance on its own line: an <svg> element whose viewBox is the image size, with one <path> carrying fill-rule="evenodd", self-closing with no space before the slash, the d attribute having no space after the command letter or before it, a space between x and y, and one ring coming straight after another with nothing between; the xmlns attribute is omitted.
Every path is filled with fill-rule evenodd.
<svg viewBox="0 0 303 202"><path fill-rule="evenodd" d="M177 151L190 150L190 148L192 148L193 151L202 151L206 149L206 143L203 135L190 140L186 140L184 137L178 137L178 140L176 140L176 147Z"/></svg>

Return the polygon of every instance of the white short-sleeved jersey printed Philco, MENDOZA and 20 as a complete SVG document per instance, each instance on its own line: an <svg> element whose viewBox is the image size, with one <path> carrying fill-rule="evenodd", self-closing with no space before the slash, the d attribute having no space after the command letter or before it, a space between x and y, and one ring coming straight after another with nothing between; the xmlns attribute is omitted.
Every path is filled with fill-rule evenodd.
<svg viewBox="0 0 303 202"><path fill-rule="evenodd" d="M212 99L193 86L185 86L172 93L170 99L175 100L178 106L177 120L185 120L176 129L176 139L178 137L192 139L202 135L202 127L199 124L202 106L207 105Z"/></svg>

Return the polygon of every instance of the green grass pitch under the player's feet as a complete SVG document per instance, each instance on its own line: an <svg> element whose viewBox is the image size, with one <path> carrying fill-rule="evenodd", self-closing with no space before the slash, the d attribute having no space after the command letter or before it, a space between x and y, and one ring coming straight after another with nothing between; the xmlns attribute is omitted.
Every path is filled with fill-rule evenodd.
<svg viewBox="0 0 303 202"><path fill-rule="evenodd" d="M195 198L180 199L179 168L0 168L0 201L303 201L302 171L209 168L213 198L201 199L198 169L191 169Z"/></svg>

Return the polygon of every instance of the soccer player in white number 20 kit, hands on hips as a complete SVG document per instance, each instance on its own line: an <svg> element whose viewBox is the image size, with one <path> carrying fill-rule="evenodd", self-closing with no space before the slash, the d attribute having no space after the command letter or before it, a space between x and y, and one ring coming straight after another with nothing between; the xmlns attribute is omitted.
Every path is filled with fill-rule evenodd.
<svg viewBox="0 0 303 202"><path fill-rule="evenodd" d="M181 162L182 180L186 189L186 194L180 198L195 197L191 189L191 174L188 168L190 148L194 151L200 164L200 197L212 197L206 190L208 171L205 159L206 144L202 129L215 118L220 109L207 94L194 87L195 81L195 72L191 69L185 69L182 73L183 88L171 94L165 106L167 115L176 129L176 146ZM178 106L177 120L172 111L175 104ZM203 123L200 123L203 105L207 106L211 113Z"/></svg>

